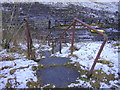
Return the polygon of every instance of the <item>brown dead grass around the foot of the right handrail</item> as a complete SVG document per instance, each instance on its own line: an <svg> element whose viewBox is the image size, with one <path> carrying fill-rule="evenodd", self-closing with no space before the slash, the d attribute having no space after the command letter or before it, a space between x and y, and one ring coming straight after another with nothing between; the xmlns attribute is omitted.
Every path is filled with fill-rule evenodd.
<svg viewBox="0 0 120 90"><path fill-rule="evenodd" d="M74 65L78 69L80 75L85 75L86 76L86 77L81 77L80 79L82 81L85 81L85 82L90 82L90 85L93 88L100 88L100 82L104 82L105 84L110 85L109 81L118 80L118 78L115 78L114 74L110 73L109 75L107 75L106 72L104 72L102 69L94 70L94 72L92 74L92 77L87 78L89 69L88 70L83 70L82 68L85 68L85 66L80 65L79 63L74 63ZM92 82L92 81L95 81L95 82ZM75 82L75 83L78 83L78 82ZM114 86L115 85L113 85L113 87ZM77 86L77 87L80 87L80 86Z"/></svg>

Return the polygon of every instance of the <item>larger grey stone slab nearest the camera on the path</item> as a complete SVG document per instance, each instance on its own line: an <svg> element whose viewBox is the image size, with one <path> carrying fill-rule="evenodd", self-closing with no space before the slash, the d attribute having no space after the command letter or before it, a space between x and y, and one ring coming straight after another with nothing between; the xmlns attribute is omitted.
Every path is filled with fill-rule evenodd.
<svg viewBox="0 0 120 90"><path fill-rule="evenodd" d="M37 75L38 78L42 79L41 83L52 83L56 87L67 87L68 84L80 77L74 67L66 66L42 68L38 71Z"/></svg>

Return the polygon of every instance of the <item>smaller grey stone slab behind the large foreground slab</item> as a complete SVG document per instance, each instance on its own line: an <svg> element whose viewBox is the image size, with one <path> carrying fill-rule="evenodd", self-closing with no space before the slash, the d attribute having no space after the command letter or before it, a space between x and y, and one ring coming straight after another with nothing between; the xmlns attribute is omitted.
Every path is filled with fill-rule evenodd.
<svg viewBox="0 0 120 90"><path fill-rule="evenodd" d="M39 61L43 65L64 65L68 62L68 58L64 57L51 57L51 58L45 58Z"/></svg>

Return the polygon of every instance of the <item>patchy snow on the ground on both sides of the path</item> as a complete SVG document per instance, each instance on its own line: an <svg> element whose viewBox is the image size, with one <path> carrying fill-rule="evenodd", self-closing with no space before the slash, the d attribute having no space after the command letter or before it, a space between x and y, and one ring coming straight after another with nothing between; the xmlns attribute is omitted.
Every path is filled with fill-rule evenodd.
<svg viewBox="0 0 120 90"><path fill-rule="evenodd" d="M56 52L51 56L57 57L69 57L70 63L74 63L77 66L78 63L82 70L89 71L94 58L100 48L102 42L80 42L75 43L75 47L78 48L77 51L74 51L73 55L70 56L70 44L67 46L64 45L62 48L62 54ZM113 86L119 87L118 85L118 46L114 46L116 42L107 43L105 48L99 58L100 61L96 64L95 70L102 70L101 73L105 73L106 75L114 75L114 79L108 80L103 77L103 80L107 80L109 84L105 82L99 82L100 88L111 88ZM19 44L23 49L25 49L25 45ZM50 51L51 47L47 45L39 45L34 44L36 49L36 53L38 51ZM40 50L41 47L41 50ZM1 57L12 57L14 60L5 60L0 61L0 88L4 87L12 87L12 88L28 88L28 82L37 82L36 71L33 70L32 66L38 66L38 64L33 60L28 60L24 56L24 54L19 53L10 53L7 50L0 51ZM38 56L40 57L40 56ZM44 57L45 58L45 57ZM1 58L2 59L2 58ZM107 62L107 63L106 63ZM79 71L80 72L80 71ZM97 75L97 72L96 72ZM86 74L82 74L81 77L87 78ZM92 87L91 83L95 83L94 79L90 79L88 81L81 80L78 78L76 80L77 83L71 83L68 87ZM49 86L50 84L45 85Z"/></svg>

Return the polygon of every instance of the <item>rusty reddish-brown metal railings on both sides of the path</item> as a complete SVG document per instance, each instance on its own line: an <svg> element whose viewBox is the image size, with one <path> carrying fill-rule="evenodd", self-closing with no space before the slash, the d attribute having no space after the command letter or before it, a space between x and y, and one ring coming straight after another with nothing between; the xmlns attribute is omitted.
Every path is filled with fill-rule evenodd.
<svg viewBox="0 0 120 90"><path fill-rule="evenodd" d="M32 46L32 39L31 39L30 32L29 32L29 29L28 29L28 22L27 22L27 20L25 20L25 21L26 21L26 38L27 38L27 46L28 46L28 55L29 55L29 56L31 55L31 57L33 57L34 55L33 55L33 53L32 53L32 48L31 48L31 46ZM99 57L100 57L100 54L101 54L101 52L102 52L102 50L103 50L103 48L104 48L104 46L105 46L105 43L107 42L107 35L106 35L106 34L104 34L104 33L102 33L102 32L99 32L98 30L96 30L95 28L93 28L93 27L89 26L88 24L82 22L81 20L74 19L74 21L65 29L65 31L64 31L63 33L60 34L60 36L59 36L58 38L53 38L52 35L47 35L47 36L46 36L46 40L48 40L48 41L52 40L52 54L54 53L54 46L55 46L54 44L55 44L55 42L59 42L59 43L60 43L60 53L61 53L61 48L62 48L61 43L62 43L64 40L66 40L65 34L66 34L67 31L72 27L71 54L73 54L73 51L74 51L74 40L75 40L75 29L76 29L75 26L76 26L76 23L80 23L80 24L86 26L87 28L93 30L94 32L96 32L97 34L101 35L101 36L104 38L103 43L102 43L102 45L100 46L100 49L99 49L99 51L98 51L98 53L97 53L97 56L96 56L96 58L95 58L95 60L94 60L94 62L93 62L93 65L92 65L92 67L91 67L91 70L90 70L89 73L88 73L88 77L90 77L90 76L92 75L92 72L93 72L93 70L94 70L94 67L95 67L95 65L96 65L96 63L97 63L97 61L98 61L98 59L99 59ZM41 34L41 35L42 35L42 34Z"/></svg>

